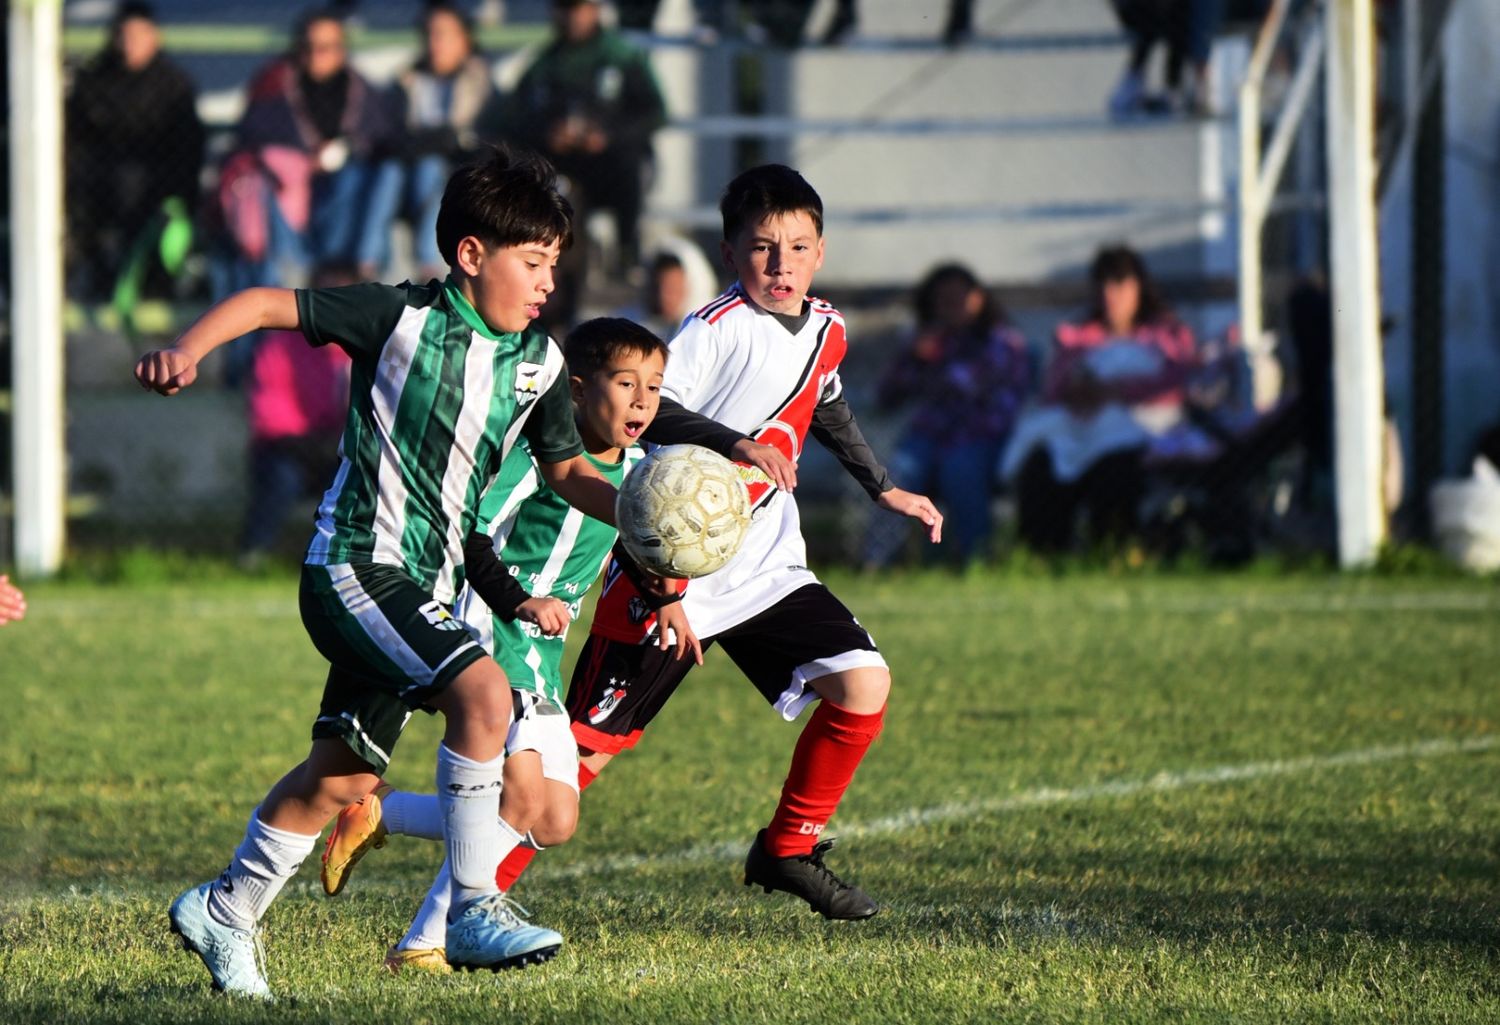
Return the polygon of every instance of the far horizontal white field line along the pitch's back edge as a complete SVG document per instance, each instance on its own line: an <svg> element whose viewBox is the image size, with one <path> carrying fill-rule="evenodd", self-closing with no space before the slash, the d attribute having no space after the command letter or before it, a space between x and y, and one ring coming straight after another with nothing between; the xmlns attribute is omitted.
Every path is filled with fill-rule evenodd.
<svg viewBox="0 0 1500 1025"><path fill-rule="evenodd" d="M998 612L1005 609L1036 609L1053 605L1066 605L1070 609L1084 609L1089 612L1167 612L1182 614L1220 614L1220 612L1322 612L1342 615L1348 612L1500 612L1500 593L1485 591L1410 591L1410 593L1376 593L1347 594L1340 591L1299 591L1294 594L1167 594L1156 597L1142 597L1136 594L1006 594L1004 590L966 597L963 594L927 596L920 602L908 597L884 594L866 594L855 599L855 606L872 612L900 608L906 618L927 615L948 615L954 609ZM297 617L296 594L285 599L212 599L184 597L182 600L164 600L142 606L140 599L36 599L27 609L27 620L69 620L69 618L174 618L198 620L240 620L264 618L282 620Z"/></svg>

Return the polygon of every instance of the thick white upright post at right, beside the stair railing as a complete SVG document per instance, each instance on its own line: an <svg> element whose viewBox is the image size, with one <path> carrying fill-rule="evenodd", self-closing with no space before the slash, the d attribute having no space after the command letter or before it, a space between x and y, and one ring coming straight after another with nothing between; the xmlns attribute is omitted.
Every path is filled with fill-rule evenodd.
<svg viewBox="0 0 1500 1025"><path fill-rule="evenodd" d="M1334 467L1338 558L1353 567L1374 561L1386 536L1371 0L1329 0L1326 18Z"/></svg>

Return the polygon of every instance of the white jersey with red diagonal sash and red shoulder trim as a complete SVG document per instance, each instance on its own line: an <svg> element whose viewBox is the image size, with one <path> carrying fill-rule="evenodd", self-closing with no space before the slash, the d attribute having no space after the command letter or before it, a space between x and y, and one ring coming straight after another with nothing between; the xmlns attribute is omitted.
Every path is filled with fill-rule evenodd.
<svg viewBox="0 0 1500 1025"><path fill-rule="evenodd" d="M738 285L730 287L682 321L670 342L662 395L798 461L813 411L843 393L838 363L848 350L838 311L819 299L807 302L807 320L794 335ZM807 569L792 495L750 483L750 500L756 515L740 554L687 588L684 611L699 636L712 636L818 581Z"/></svg>

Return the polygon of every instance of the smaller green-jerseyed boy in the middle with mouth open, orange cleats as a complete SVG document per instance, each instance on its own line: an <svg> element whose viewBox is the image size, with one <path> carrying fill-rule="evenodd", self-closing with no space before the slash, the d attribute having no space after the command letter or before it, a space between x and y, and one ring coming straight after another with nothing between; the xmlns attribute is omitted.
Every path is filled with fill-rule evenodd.
<svg viewBox="0 0 1500 1025"><path fill-rule="evenodd" d="M618 486L640 458L636 446L656 417L666 344L628 320L598 318L579 324L564 351L584 452ZM716 426L702 425L708 434L700 440L711 443ZM616 534L548 488L525 444L512 450L480 501L478 527L465 545L468 587L458 614L500 662L516 695L500 804L508 854L519 845L562 843L578 824L578 741L562 708L562 645ZM664 624L658 644L668 647L666 638L675 636L678 657L692 651L702 662L682 606L658 596L650 600ZM351 693L345 711L369 731L398 734L405 710L387 696L366 695ZM381 785L345 809L324 848L324 888L339 893L354 863L388 833L441 839L436 797ZM411 929L386 956L392 971L447 971L447 879L444 864Z"/></svg>

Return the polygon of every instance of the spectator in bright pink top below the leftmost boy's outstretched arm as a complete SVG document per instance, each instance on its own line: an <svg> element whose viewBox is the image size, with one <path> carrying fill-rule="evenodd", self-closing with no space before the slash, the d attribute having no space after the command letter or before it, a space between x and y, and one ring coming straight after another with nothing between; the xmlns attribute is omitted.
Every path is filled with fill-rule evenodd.
<svg viewBox="0 0 1500 1025"><path fill-rule="evenodd" d="M328 264L315 288L360 281ZM308 345L302 332L262 332L244 386L250 422L250 500L240 533L240 564L258 567L276 545L288 510L333 479L350 405L350 357L338 345Z"/></svg>

